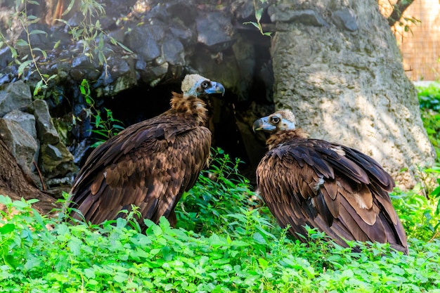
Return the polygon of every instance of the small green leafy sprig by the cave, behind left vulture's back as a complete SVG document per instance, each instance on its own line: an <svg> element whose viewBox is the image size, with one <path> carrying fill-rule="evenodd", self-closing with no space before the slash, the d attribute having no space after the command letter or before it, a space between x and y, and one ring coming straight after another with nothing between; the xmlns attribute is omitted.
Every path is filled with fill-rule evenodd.
<svg viewBox="0 0 440 293"><path fill-rule="evenodd" d="M101 145L101 143L107 141L108 138L118 134L119 131L124 129L124 126L122 126L121 121L113 117L113 112L110 109L104 108L105 117L101 116L101 112L96 108L95 100L93 100L93 98L91 97L89 82L87 82L86 79L83 79L81 84L79 85L79 91L81 92L82 96L84 96L86 104L89 107L84 108L84 111L86 111L86 116L93 118L91 124L93 125L94 129L92 129L91 131L94 134L98 135L98 141L96 141L96 143L93 143L91 147L96 148L98 145ZM75 119L79 118L75 117Z"/></svg>

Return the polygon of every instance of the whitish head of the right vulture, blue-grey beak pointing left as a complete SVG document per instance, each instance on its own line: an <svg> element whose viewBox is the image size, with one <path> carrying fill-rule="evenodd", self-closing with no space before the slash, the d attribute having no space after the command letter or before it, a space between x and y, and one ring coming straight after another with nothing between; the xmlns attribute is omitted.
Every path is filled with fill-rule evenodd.
<svg viewBox="0 0 440 293"><path fill-rule="evenodd" d="M270 134L276 131L295 129L295 115L290 110L280 110L266 117L255 120L254 131L266 131Z"/></svg>

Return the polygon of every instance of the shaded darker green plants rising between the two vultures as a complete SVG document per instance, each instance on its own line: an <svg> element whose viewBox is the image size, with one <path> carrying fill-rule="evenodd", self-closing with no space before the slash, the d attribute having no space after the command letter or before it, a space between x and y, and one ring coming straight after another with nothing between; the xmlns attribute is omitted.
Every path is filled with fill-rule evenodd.
<svg viewBox="0 0 440 293"><path fill-rule="evenodd" d="M231 231L231 214L241 214L243 207L259 204L247 178L238 174L240 159L231 163L220 148L213 150L211 157L209 170L199 177L199 184L190 193L183 194L176 208L179 227L202 234Z"/></svg>

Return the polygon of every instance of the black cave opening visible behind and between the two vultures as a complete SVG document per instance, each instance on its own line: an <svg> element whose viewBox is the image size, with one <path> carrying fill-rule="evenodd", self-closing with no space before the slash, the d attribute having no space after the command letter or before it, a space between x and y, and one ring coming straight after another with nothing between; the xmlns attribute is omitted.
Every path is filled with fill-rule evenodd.
<svg viewBox="0 0 440 293"><path fill-rule="evenodd" d="M115 96L105 97L99 103L101 113L104 108L112 111L114 119L122 122L124 127L141 122L145 119L160 115L169 109L171 92L180 91L180 79L168 79L157 86L138 84L129 90L122 91ZM273 103L267 100L266 83L259 77L254 77L248 99L240 98L226 89L224 96L212 96L207 102L209 109L209 129L212 131L212 147L221 148L231 159L238 157L242 160L240 171L254 183L254 171L259 159L265 151L264 142L252 133L252 122L257 114L252 108L261 105L264 108L273 108ZM103 117L105 118L105 117ZM91 136L91 141L96 136ZM249 150L252 145L252 150ZM91 150L87 150L79 163L82 167Z"/></svg>

